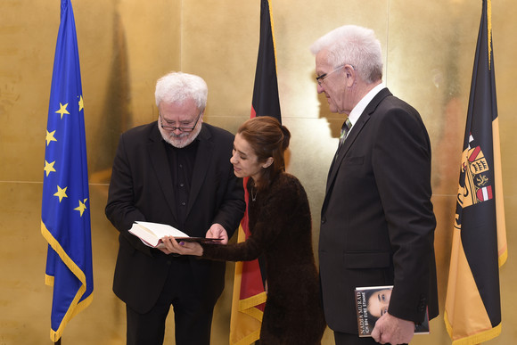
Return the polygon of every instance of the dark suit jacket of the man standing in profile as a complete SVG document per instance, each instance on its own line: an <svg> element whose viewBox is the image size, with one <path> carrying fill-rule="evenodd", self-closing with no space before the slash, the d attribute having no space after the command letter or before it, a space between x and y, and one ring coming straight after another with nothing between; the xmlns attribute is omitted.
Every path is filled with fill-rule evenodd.
<svg viewBox="0 0 517 345"><path fill-rule="evenodd" d="M329 171L319 261L325 318L357 333L354 289L394 285L389 312L438 315L431 144L423 121L387 88L352 127Z"/></svg>

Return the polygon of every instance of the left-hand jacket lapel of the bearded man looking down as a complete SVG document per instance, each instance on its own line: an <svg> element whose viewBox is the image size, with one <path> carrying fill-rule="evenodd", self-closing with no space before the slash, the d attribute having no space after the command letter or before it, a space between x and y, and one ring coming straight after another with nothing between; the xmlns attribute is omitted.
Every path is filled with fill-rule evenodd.
<svg viewBox="0 0 517 345"><path fill-rule="evenodd" d="M147 152L149 153L156 180L158 181L161 192L167 201L168 208L172 212L174 218L177 219L176 198L172 185L172 175L170 172L170 166L168 165L167 152L165 152L163 138L161 137L157 126L152 129L151 135L149 136Z"/></svg>

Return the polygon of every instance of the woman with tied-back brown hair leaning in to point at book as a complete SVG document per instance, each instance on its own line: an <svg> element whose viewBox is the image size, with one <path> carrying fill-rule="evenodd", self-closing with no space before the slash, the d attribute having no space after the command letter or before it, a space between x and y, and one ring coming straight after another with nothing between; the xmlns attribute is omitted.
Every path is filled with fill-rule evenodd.
<svg viewBox="0 0 517 345"><path fill-rule="evenodd" d="M245 242L176 242L169 251L203 259L266 263L267 301L260 345L320 344L326 324L312 249L308 197L298 178L285 172L283 154L291 133L271 117L249 119L239 127L230 160L237 177L250 177Z"/></svg>

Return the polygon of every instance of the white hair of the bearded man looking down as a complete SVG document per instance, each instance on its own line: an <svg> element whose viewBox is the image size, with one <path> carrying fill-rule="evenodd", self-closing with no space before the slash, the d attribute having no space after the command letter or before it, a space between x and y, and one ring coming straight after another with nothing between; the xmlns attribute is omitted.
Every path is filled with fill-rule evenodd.
<svg viewBox="0 0 517 345"><path fill-rule="evenodd" d="M170 72L156 82L154 98L157 106L161 102L184 103L192 99L198 109L203 111L207 105L208 94L209 87L201 77L183 72Z"/></svg>

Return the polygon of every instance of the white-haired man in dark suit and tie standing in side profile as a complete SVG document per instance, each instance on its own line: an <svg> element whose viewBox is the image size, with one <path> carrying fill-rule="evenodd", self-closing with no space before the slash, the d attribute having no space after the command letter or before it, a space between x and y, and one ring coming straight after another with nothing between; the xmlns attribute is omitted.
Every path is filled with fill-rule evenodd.
<svg viewBox="0 0 517 345"><path fill-rule="evenodd" d="M438 315L431 204L431 144L409 104L382 85L373 30L334 29L311 46L318 93L346 117L321 212L319 263L336 344L409 342ZM373 338L357 336L354 290L393 285Z"/></svg>

